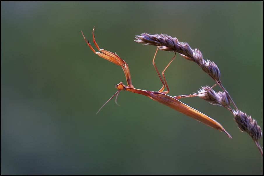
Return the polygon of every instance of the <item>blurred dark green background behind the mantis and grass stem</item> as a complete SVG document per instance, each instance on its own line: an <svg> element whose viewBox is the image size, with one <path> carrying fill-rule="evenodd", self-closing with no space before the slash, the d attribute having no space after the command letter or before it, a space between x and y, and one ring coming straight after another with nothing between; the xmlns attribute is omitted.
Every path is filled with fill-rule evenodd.
<svg viewBox="0 0 264 176"><path fill-rule="evenodd" d="M182 101L233 139L128 91L120 107L111 100L96 115L126 80L87 46L81 30L91 41L94 26L98 45L129 64L138 89L162 84L156 47L135 35L168 34L200 49L263 129L263 1L1 1L1 175L263 175L263 158L233 115L198 97ZM158 51L159 71L173 55ZM165 75L171 96L214 85L179 54Z"/></svg>

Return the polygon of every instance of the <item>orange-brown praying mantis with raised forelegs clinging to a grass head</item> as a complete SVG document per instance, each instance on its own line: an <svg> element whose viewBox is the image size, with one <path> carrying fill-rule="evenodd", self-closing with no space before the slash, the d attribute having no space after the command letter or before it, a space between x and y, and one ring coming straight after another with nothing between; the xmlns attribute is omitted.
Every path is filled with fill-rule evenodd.
<svg viewBox="0 0 264 176"><path fill-rule="evenodd" d="M81 32L82 32L82 31L81 31ZM85 39L83 33L82 33L82 36L83 36L83 38ZM86 39L85 39L85 41L87 42ZM158 51L158 49L159 49L159 46L158 46L158 48L157 48L157 50L156 50L156 53L155 53L155 55L154 55L154 58L153 58L152 63L153 63L153 65L154 65L154 67L155 67L155 69L156 69L156 71L157 71L157 73L158 73L158 75L159 75L159 78L160 78L160 80L161 80L163 86L162 86L162 88L161 88L159 91L147 91L147 90L141 90L141 89L136 89L136 88L134 88L134 86L132 85L132 82L131 82L131 75L130 75L130 71L129 71L128 64L127 64L124 60L122 60L118 55L116 55L116 54L114 54L114 53L111 53L111 52L109 52L109 51L106 51L106 50L104 50L104 49L100 49L100 48L99 48L98 44L97 44L96 41L95 41L94 30L93 30L93 42L94 42L96 48L99 50L99 52L96 52L96 51L94 50L94 48L93 48L93 47L91 46L91 44L89 43L89 40L88 40L87 44L88 44L88 46L91 48L91 50L92 50L95 54L99 55L100 57L102 57L102 58L104 58L104 59L106 59L106 60L109 60L110 62L113 62L114 64L117 64L117 65L121 66L122 69L124 70L124 73L125 73L125 76L126 76L126 82L127 82L127 85L128 85L128 86L125 86L122 82L120 82L119 84L117 84L117 85L115 86L115 88L117 88L118 91L115 93L115 95L116 95L116 94L118 95L118 93L119 93L121 90L125 90L125 91L130 91L130 92L134 92L134 93L137 93L137 94L142 94L142 95L148 96L149 98L151 98L151 99L153 99L153 100L155 100L155 101L157 101L157 102L159 102L159 103L162 103L163 105L166 105L166 106L168 106L168 107L171 107L171 108L175 109L176 111L181 112L182 114L185 114L185 115L187 115L187 116L189 116L189 117L191 117L191 118L194 118L194 119L196 119L197 121L200 121L200 122L204 123L205 125L208 125L208 126L214 128L214 129L217 129L217 130L219 130L219 131L223 131L223 132L225 132L225 133L228 135L229 138L232 138L232 137L230 136L230 134L228 134L228 132L226 132L226 130L222 127L222 125L221 125L220 123L218 123L218 122L215 121L214 119L208 117L207 115L205 115L205 114L203 114L203 113L197 111L196 109L194 109L194 108L192 108L192 107L190 107L190 106L188 106L188 105L186 105L186 104L184 104L184 103L182 103L181 101L178 100L178 99L180 99L180 98L184 98L184 97L193 97L193 96L197 96L197 95L199 95L199 94L181 95L181 96L169 96L169 95L167 95L167 94L169 93L170 90L169 90L169 87L168 87L167 81L166 81L166 79L165 79L164 71L168 68L168 66L170 65L170 63L174 60L175 55L176 55L176 52L175 52L175 55L174 55L173 59L169 62L169 64L166 66L166 68L162 71L162 73L161 73L161 74L162 74L162 77L163 77L163 79L162 79L162 77L161 77L161 75L160 75L160 73L159 73L159 71L158 71L158 69L157 69L157 67L156 67L156 65L155 65L155 63L154 63L156 53L157 53L157 51ZM164 80L164 81L163 81L163 80ZM215 85L217 85L217 84L218 84L218 83L216 83ZM214 86L215 86L215 85L214 85ZM212 86L210 89L212 89L214 86ZM164 91L165 87L166 87L167 91ZM210 89L209 89L209 90L210 90ZM209 91L209 90L207 90L207 91ZM207 91L206 91L206 92L207 92ZM204 94L204 93L206 93L206 92L203 92L203 93L201 93L201 94ZM115 95L114 95L114 96L115 96ZM113 98L114 96L112 96L112 98ZM110 98L110 99L112 99L112 98ZM109 100L110 100L110 99L109 99ZM109 101L109 100L108 100L108 101ZM108 101L107 101L107 102L108 102ZM107 103L107 102L106 102L106 103ZM106 103L105 103L105 104L106 104ZM105 104L104 104L104 105L105 105ZM104 106L104 105L103 105L103 106ZM102 107L103 107L103 106L102 106ZM101 108L102 108L102 107L101 107ZM100 109L101 109L101 108L100 108ZM100 111L100 109L99 109L99 111ZM99 111L98 111L98 112L99 112ZM98 112L97 112L97 113L98 113Z"/></svg>

